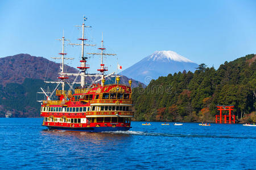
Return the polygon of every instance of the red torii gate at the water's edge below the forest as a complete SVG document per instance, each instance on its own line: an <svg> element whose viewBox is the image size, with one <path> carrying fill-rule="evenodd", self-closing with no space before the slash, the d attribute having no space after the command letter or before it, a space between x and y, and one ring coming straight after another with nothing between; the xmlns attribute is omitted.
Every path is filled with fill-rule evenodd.
<svg viewBox="0 0 256 170"><path fill-rule="evenodd" d="M226 117L227 117L227 115L226 114L222 115L222 111L229 111L229 115L228 115L228 117L229 117L229 124L231 124L231 117L233 117L233 120L232 120L233 124L235 123L236 116L234 116L234 114L231 115L231 111L234 110L233 109L234 105L217 105L217 108L218 108L218 111L220 111L220 115L216 114L216 116L215 116L216 124L218 122L220 122L220 124L222 124L222 116L224 116L224 123L226 124ZM218 119L218 117L219 117L219 119Z"/></svg>

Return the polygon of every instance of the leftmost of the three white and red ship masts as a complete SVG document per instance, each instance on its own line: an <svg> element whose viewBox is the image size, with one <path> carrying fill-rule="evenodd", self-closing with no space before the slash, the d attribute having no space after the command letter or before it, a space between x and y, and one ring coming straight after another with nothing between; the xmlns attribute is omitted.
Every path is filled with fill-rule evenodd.
<svg viewBox="0 0 256 170"><path fill-rule="evenodd" d="M61 57L51 57L51 58L53 58L53 59L62 59L62 62L61 62L61 71L60 71L60 76L58 77L58 79L60 79L61 80L61 85L62 85L62 90L64 91L64 87L65 87L65 79L68 79L68 77L67 76L65 76L65 74L64 74L64 66L65 66L65 63L64 63L64 61L65 61L65 59L74 59L74 58L67 58L67 57L64 57L65 55L67 55L67 53L65 53L64 52L64 44L65 44L65 41L69 41L68 39L65 39L65 37L64 37L64 31L63 31L63 37L61 38L61 39L57 39L57 40L59 40L59 41L62 41L62 52L61 53L59 53L60 55L61 55Z"/></svg>

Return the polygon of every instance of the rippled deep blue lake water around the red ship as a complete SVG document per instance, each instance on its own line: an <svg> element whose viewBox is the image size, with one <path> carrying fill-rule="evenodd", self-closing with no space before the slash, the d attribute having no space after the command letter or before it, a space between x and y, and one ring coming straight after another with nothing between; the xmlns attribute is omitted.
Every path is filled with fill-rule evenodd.
<svg viewBox="0 0 256 170"><path fill-rule="evenodd" d="M162 126L131 122L130 131L48 131L42 118L0 118L5 169L255 169L256 127Z"/></svg>

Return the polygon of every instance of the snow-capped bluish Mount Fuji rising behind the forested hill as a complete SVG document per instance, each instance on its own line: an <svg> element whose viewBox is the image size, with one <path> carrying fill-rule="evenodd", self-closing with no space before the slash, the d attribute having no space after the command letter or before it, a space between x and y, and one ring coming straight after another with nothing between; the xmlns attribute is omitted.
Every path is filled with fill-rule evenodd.
<svg viewBox="0 0 256 170"><path fill-rule="evenodd" d="M196 67L198 65L195 62L173 51L156 51L120 74L149 84L151 79L158 79L159 76L167 76L184 70L193 72Z"/></svg>

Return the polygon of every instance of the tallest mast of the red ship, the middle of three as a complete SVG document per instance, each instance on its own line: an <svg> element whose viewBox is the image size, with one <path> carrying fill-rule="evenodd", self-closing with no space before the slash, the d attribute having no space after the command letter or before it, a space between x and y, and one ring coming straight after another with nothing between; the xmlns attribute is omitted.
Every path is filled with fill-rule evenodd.
<svg viewBox="0 0 256 170"><path fill-rule="evenodd" d="M85 50L85 47L84 46L95 46L93 44L85 44L85 40L88 40L88 39L85 39L85 36L84 36L84 28L90 28L90 26L86 26L84 24L84 22L87 20L87 18L84 16L84 20L82 22L82 25L76 25L75 27L82 27L82 37L78 40L81 40L82 43L81 44L71 44L71 45L81 45L82 46L82 54L81 54L81 65L80 67L77 67L78 69L81 70L81 87L84 87L85 86L85 72L87 69L89 69L89 65L86 65L86 59L88 59L87 57L84 57L84 50Z"/></svg>

